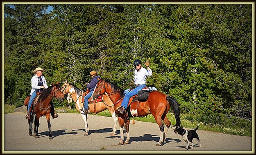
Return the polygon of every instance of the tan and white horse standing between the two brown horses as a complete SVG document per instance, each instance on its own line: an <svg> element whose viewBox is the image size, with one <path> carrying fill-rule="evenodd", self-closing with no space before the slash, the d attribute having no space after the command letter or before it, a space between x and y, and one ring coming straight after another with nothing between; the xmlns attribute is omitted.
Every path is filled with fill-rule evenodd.
<svg viewBox="0 0 256 155"><path fill-rule="evenodd" d="M72 100L75 102L75 108L77 109L77 111L79 111L79 113L81 114L81 116L84 120L84 126L85 126L84 135L88 135L89 128L88 128L88 122L87 122L88 121L87 113L80 111L80 109L83 109L85 92L77 89L76 86L68 83L67 80L64 82L64 84L62 86L61 92L64 94L70 93ZM111 116L113 117L113 120L114 120L114 127L113 127L113 131L112 131L111 135L116 135L118 118L116 117L116 113L115 113L115 110L113 107L113 102L109 99L108 95L103 95L102 100L103 100L103 102L96 102L95 104L91 104L89 102L88 113L96 114L96 113L100 113L106 109L109 109Z"/></svg>

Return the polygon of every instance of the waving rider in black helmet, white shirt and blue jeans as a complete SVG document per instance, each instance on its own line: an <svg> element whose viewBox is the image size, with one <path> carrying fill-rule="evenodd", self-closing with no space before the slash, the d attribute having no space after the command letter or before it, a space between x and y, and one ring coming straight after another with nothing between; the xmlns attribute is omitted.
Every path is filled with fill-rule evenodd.
<svg viewBox="0 0 256 155"><path fill-rule="evenodd" d="M133 95L138 94L138 92L141 89L145 88L147 77L152 75L152 70L150 69L150 62L149 61L145 62L145 65L147 66L147 69L145 69L141 66L141 61L139 59L136 59L133 64L136 68L135 72L134 72L134 86L135 86L135 88L125 94L125 98L122 101L122 104L121 104L120 108L118 108L118 110L117 110L121 114L125 113L125 110L127 108L130 97L132 97Z"/></svg>

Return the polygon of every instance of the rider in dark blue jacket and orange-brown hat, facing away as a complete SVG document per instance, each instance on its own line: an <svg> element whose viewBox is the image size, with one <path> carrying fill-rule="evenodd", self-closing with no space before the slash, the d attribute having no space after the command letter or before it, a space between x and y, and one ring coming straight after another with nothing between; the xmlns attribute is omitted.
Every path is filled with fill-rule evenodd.
<svg viewBox="0 0 256 155"><path fill-rule="evenodd" d="M84 109L80 109L81 111L88 112L88 99L91 98L93 95L93 91L95 89L95 86L97 85L98 79L100 79L100 76L97 75L96 71L91 71L90 76L92 78L90 84L86 83L87 89L89 89L89 93L84 97Z"/></svg>

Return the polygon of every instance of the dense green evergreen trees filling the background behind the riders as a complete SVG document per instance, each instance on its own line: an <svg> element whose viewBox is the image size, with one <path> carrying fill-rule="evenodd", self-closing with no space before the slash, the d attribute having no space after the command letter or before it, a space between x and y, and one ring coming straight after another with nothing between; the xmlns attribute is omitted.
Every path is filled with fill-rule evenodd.
<svg viewBox="0 0 256 155"><path fill-rule="evenodd" d="M250 4L17 4L5 6L5 104L22 106L32 71L79 89L90 71L124 88L135 59L150 60L147 86L181 112L251 120Z"/></svg>

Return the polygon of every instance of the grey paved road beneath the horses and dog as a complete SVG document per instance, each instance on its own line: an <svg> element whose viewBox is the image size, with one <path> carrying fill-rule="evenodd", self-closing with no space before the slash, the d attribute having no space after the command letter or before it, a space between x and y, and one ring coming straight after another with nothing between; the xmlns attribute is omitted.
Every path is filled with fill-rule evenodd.
<svg viewBox="0 0 256 155"><path fill-rule="evenodd" d="M191 151L206 151L205 153L213 153L212 151L254 152L252 137L202 130L197 131L202 148L199 148L198 142L194 140L194 149L186 150L186 143L181 139L181 136L170 130L166 135L167 142L156 147L160 135L158 125L140 121L135 121L136 124L130 124L130 144L118 146L119 129L117 135L110 135L113 128L112 117L88 115L88 122L90 133L88 136L84 136L84 125L80 114L59 113L57 119L51 119L54 139L48 140L47 122L45 117L42 117L40 118L39 139L35 139L28 135L25 113L5 114L5 135L2 151L4 148L4 153L25 153L21 151L39 151L38 153L48 153L46 151L58 151L51 153L60 153L59 151L65 151L63 153L72 153L72 151L76 151L75 153L99 153L97 151L106 151L104 153L120 153L119 151L126 151L122 153L133 153L127 151L156 151L154 153L168 153L166 151L170 151L169 153L174 153L172 151L179 151L179 153Z"/></svg>

